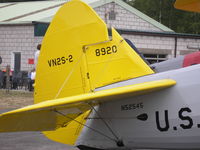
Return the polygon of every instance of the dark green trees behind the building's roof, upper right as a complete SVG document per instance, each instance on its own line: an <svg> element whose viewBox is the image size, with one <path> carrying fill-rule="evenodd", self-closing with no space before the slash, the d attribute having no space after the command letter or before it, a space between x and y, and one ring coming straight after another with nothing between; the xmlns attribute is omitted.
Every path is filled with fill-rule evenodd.
<svg viewBox="0 0 200 150"><path fill-rule="evenodd" d="M175 0L124 1L175 32L200 34L200 13L175 9Z"/></svg>

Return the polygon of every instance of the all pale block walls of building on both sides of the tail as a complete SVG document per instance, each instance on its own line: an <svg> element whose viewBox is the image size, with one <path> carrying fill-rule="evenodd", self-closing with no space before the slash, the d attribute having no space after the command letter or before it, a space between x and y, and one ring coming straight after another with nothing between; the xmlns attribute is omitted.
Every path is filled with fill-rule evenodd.
<svg viewBox="0 0 200 150"><path fill-rule="evenodd" d="M104 19L108 26L113 26L120 29L133 29L145 31L157 31L160 29L145 22L138 16L132 14L128 10L120 7L117 4L106 4L95 8L97 13ZM105 14L110 10L115 10L116 20L105 19ZM175 39L172 37L159 36L141 36L141 35L122 35L130 39L135 46L143 53L167 54L168 58L173 57L175 49ZM28 64L29 58L34 58L36 46L41 43L42 37L34 37L34 26L29 25L0 25L0 56L3 58L3 63L0 69L4 69L6 65L13 67L13 53L21 53L21 70L31 70L34 66ZM200 39L183 39L177 40L177 54L187 54L195 50L188 49L188 45L198 46Z"/></svg>

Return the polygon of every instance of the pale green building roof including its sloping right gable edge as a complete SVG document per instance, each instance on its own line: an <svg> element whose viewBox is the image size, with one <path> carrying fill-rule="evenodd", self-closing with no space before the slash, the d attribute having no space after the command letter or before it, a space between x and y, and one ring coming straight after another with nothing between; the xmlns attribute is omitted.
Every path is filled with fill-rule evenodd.
<svg viewBox="0 0 200 150"><path fill-rule="evenodd" d="M54 14L60 8L62 4L69 0L54 0L54 1L35 1L35 2L13 2L13 3L0 3L0 24L4 22L12 24L14 22L50 22ZM170 28L160 24L153 20L137 9L129 6L122 0L83 0L84 2L91 5L93 8L105 5L110 2L115 2L121 7L134 13L143 20L151 23L155 27L165 31L173 32Z"/></svg>

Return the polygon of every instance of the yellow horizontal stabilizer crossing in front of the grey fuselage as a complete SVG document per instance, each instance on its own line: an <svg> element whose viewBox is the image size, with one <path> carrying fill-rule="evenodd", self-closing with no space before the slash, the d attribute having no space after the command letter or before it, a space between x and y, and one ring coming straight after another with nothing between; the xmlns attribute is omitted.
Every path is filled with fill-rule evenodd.
<svg viewBox="0 0 200 150"><path fill-rule="evenodd" d="M146 94L175 84L174 80L163 79L30 105L1 114L0 132L55 130L88 112L91 105Z"/></svg>

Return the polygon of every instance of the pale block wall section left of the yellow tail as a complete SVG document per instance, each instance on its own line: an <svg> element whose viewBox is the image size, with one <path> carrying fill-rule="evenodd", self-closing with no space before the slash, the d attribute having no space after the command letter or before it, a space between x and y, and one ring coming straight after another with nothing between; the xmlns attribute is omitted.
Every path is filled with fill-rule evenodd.
<svg viewBox="0 0 200 150"><path fill-rule="evenodd" d="M0 26L0 56L3 63L0 69L11 65L14 69L14 52L21 53L21 70L30 70L33 65L28 64L29 58L34 58L36 46L42 38L34 37L33 25Z"/></svg>

